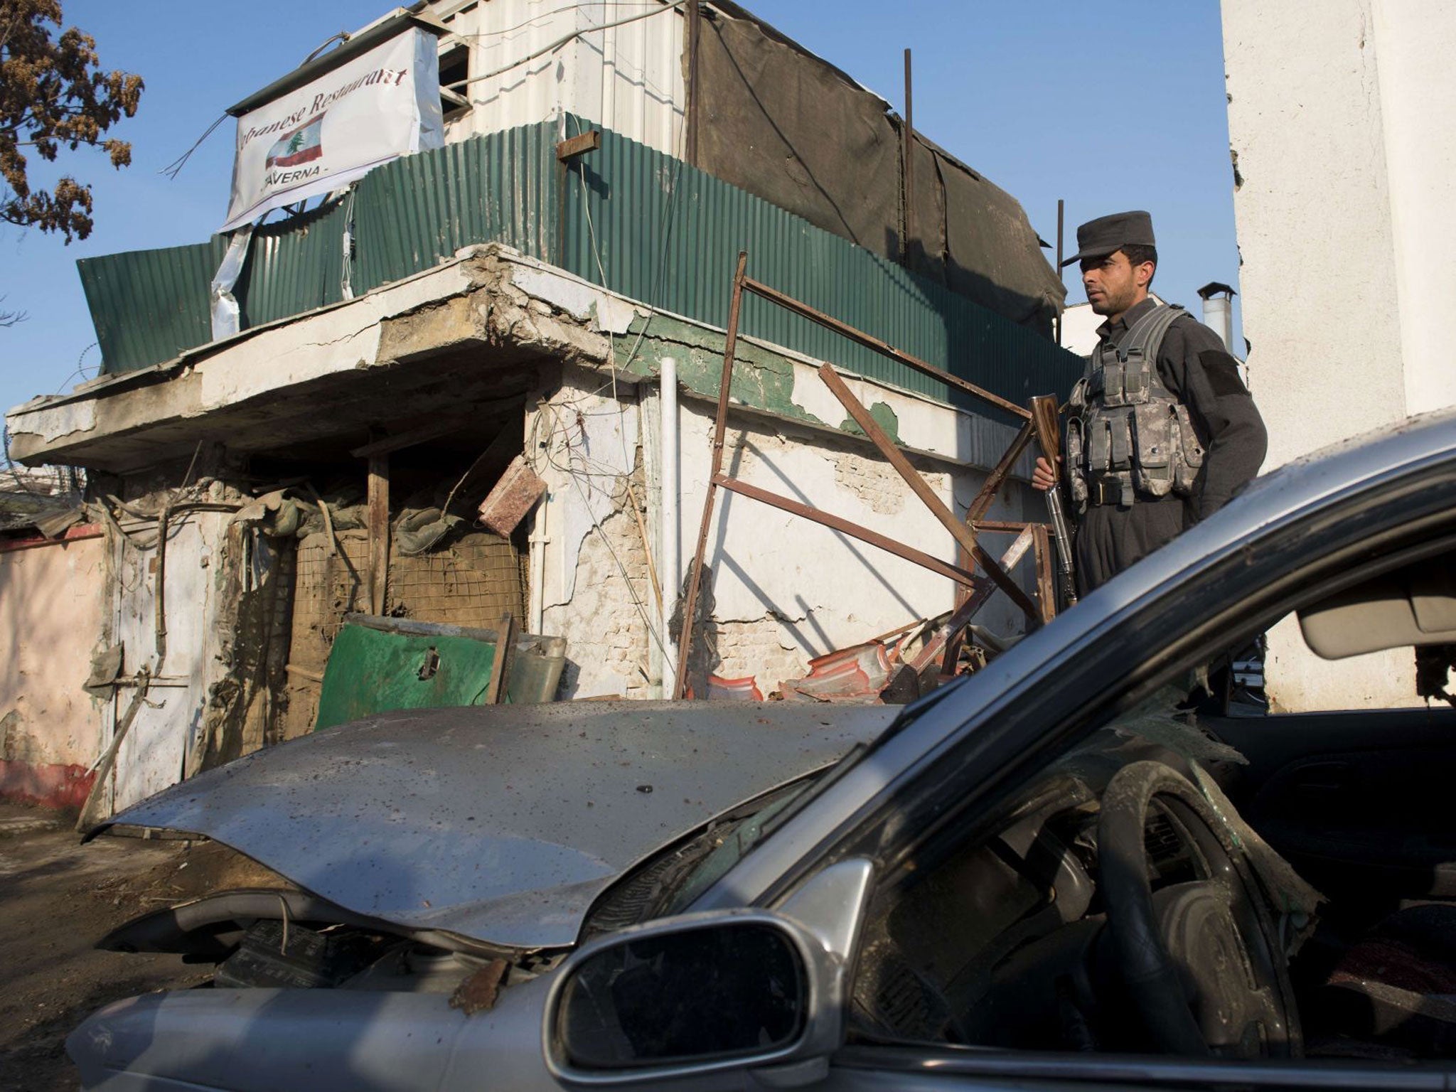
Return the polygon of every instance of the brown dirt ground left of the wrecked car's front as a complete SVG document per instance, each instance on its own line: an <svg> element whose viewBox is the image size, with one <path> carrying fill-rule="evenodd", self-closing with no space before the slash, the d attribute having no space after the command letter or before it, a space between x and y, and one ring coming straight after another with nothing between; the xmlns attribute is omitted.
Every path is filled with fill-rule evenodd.
<svg viewBox="0 0 1456 1092"><path fill-rule="evenodd" d="M0 1089L71 1092L66 1037L121 997L207 981L210 964L93 945L150 910L218 887L271 887L264 869L215 843L99 837L67 815L0 804Z"/></svg>

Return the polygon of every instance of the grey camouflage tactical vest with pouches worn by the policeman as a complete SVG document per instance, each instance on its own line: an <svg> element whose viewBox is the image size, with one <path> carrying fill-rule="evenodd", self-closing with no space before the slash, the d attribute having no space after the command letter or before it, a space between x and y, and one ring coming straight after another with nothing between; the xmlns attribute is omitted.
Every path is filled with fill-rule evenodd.
<svg viewBox="0 0 1456 1092"><path fill-rule="evenodd" d="M1123 338L1098 342L1086 376L1072 389L1067 479L1072 498L1130 505L1144 498L1192 494L1203 444L1188 408L1158 374L1158 349L1182 307L1159 304Z"/></svg>

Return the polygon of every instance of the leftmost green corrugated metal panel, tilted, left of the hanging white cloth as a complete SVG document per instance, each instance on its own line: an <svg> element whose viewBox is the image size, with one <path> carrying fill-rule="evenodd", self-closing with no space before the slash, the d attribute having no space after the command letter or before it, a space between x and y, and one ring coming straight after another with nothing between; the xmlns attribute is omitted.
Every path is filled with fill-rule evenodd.
<svg viewBox="0 0 1456 1092"><path fill-rule="evenodd" d="M96 325L102 371L144 368L211 339L208 285L226 249L213 237L76 262Z"/></svg>

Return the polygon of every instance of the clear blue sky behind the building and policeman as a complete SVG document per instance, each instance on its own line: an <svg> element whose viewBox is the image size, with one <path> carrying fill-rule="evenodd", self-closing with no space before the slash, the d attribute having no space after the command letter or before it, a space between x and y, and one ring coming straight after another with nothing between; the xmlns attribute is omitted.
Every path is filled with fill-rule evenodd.
<svg viewBox="0 0 1456 1092"><path fill-rule="evenodd" d="M485 0L489 3L489 0ZM389 9L373 0L67 0L67 25L102 64L141 74L137 116L114 130L132 166L63 153L32 183L70 170L95 189L96 230L58 237L0 226L0 303L29 319L0 329L0 408L68 390L100 363L76 259L207 239L232 175L232 121L178 181L160 175L223 112L297 66L336 31ZM559 4L547 4L555 7ZM748 0L753 12L903 106L914 52L916 128L1013 194L1056 242L1077 223L1146 208L1159 239L1158 291L1197 309L1208 281L1238 285L1217 0ZM1082 301L1075 272L1069 301Z"/></svg>

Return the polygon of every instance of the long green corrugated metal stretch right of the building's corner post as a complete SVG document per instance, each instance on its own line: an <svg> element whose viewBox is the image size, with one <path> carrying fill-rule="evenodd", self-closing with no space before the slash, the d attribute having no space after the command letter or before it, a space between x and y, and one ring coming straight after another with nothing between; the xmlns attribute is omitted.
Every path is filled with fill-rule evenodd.
<svg viewBox="0 0 1456 1092"><path fill-rule="evenodd" d="M747 250L750 277L1003 397L1064 392L1082 373L1080 360L1032 331L617 134L603 132L601 149L574 162L568 186L562 265L657 307L722 326ZM943 384L757 297L744 300L743 331L948 397Z"/></svg>

